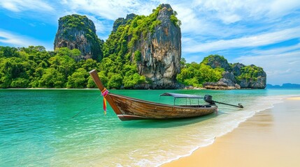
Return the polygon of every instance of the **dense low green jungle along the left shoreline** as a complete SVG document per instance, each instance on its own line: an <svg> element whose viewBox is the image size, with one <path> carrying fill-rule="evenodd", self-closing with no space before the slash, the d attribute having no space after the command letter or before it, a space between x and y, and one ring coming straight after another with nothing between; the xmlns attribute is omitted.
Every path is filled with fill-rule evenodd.
<svg viewBox="0 0 300 167"><path fill-rule="evenodd" d="M91 88L88 71L99 63L76 62L78 49L46 51L42 46L0 47L0 88Z"/></svg>

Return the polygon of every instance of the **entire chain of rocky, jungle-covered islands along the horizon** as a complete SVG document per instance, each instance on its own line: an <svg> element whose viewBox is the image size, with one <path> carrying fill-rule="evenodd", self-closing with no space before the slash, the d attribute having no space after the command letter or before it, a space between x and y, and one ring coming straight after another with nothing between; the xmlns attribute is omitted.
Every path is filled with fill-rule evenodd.
<svg viewBox="0 0 300 167"><path fill-rule="evenodd" d="M94 88L92 69L107 88L265 88L266 73L255 65L231 64L219 55L186 63L176 15L161 4L148 16L120 17L105 42L86 16L61 17L54 51L0 47L0 88Z"/></svg>

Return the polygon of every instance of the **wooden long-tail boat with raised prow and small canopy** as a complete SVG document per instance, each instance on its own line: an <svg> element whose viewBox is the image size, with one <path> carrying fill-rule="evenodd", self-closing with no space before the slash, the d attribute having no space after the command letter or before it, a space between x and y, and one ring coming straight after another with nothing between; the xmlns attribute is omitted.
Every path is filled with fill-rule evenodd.
<svg viewBox="0 0 300 167"><path fill-rule="evenodd" d="M192 118L204 116L217 111L215 103L204 105L175 105L177 98L203 99L198 95L187 95L179 93L164 93L162 96L173 96L174 105L148 102L123 95L109 93L104 88L96 70L90 71L95 84L101 90L101 94L108 101L113 111L120 120L145 120L145 119L172 119L172 118ZM211 100L211 99L210 99Z"/></svg>

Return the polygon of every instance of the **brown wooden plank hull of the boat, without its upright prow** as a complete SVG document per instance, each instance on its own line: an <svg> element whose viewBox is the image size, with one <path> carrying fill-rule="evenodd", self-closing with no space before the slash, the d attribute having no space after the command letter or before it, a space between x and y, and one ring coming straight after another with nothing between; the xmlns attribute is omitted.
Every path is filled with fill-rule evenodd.
<svg viewBox="0 0 300 167"><path fill-rule="evenodd" d="M108 95L121 112L116 113L120 120L192 118L217 111L216 105L173 106L113 93L108 93Z"/></svg>

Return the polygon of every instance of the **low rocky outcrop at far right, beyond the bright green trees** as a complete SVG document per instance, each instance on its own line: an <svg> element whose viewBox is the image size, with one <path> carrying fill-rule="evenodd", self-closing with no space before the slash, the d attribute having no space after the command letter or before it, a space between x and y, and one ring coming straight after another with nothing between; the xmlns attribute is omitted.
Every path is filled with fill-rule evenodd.
<svg viewBox="0 0 300 167"><path fill-rule="evenodd" d="M209 89L236 89L236 88L266 88L266 72L262 67L243 65L242 63L229 64L227 60L218 55L204 58L203 63L210 67L224 69L222 78L217 82L203 84Z"/></svg>

